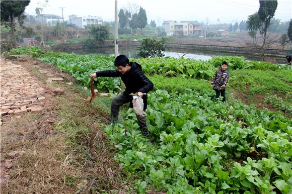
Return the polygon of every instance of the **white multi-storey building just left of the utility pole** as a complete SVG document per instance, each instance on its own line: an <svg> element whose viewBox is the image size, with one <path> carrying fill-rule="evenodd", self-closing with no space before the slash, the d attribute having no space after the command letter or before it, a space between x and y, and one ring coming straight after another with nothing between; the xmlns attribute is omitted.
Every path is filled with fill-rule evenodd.
<svg viewBox="0 0 292 194"><path fill-rule="evenodd" d="M102 24L102 19L97 16L77 17L75 15L69 16L69 23L74 24L79 28L85 28L87 25Z"/></svg>

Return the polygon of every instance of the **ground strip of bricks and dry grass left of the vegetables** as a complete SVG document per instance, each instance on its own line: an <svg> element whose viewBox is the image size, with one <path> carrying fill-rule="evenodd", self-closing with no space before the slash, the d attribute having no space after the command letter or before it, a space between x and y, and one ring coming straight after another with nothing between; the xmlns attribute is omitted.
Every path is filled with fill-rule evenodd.
<svg viewBox="0 0 292 194"><path fill-rule="evenodd" d="M129 192L102 130L108 112L86 105L75 79L34 59L1 65L2 193Z"/></svg>

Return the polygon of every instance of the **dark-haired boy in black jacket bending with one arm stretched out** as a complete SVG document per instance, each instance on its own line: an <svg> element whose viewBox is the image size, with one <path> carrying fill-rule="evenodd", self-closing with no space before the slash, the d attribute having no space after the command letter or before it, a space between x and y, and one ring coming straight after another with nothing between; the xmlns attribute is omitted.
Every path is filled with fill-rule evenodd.
<svg viewBox="0 0 292 194"><path fill-rule="evenodd" d="M116 66L116 70L106 70L106 71L98 71L90 75L90 78L94 79L95 77L121 77L122 81L126 85L125 91L116 96L111 103L111 119L112 122L116 122L118 120L118 114L120 110L120 106L130 103L130 107L132 108L132 96L130 93L137 93L139 96L142 96L145 111L147 108L147 94L153 89L153 83L144 75L142 72L142 67L136 62L129 62L129 59L125 55L119 55L116 57L114 65ZM136 114L139 127L142 133L145 136L149 135L149 131L147 128L146 117L138 116Z"/></svg>

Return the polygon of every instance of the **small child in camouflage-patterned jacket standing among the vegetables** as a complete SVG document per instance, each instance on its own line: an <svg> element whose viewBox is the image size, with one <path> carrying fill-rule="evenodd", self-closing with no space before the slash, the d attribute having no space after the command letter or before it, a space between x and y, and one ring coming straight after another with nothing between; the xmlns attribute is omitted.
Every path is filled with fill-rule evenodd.
<svg viewBox="0 0 292 194"><path fill-rule="evenodd" d="M221 68L219 68L215 72L211 81L211 87L216 92L216 99L218 99L221 94L221 96L223 97L223 102L226 102L225 88L229 79L229 72L226 71L227 68L228 64L226 61L224 61L221 65Z"/></svg>

